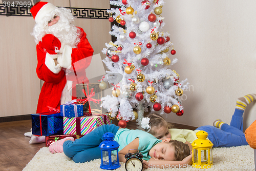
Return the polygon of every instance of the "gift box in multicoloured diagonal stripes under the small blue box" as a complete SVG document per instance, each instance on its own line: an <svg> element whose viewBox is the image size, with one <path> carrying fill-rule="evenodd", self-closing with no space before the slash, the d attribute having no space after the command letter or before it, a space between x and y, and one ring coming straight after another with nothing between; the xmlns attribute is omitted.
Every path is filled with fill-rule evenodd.
<svg viewBox="0 0 256 171"><path fill-rule="evenodd" d="M83 116L78 118L63 117L63 133L64 135L86 135L96 127L104 125L104 123L111 124L112 121L109 120L107 116L104 117L103 115Z"/></svg>

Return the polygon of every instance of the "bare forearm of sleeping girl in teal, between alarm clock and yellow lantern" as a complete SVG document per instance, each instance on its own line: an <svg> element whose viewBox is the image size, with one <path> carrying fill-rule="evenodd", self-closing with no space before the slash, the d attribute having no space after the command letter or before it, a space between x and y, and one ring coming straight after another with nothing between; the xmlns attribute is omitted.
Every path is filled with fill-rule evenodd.
<svg viewBox="0 0 256 171"><path fill-rule="evenodd" d="M148 161L149 167L158 167L158 168L181 168L187 167L188 165L192 164L192 154L184 158L182 161L167 161L167 160L154 160L150 159Z"/></svg>

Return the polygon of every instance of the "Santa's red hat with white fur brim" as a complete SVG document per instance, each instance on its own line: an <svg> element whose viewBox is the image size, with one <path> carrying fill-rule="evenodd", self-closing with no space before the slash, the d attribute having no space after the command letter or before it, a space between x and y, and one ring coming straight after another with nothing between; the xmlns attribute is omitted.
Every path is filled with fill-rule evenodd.
<svg viewBox="0 0 256 171"><path fill-rule="evenodd" d="M32 13L35 22L38 23L46 14L52 12L56 8L57 7L51 3L38 2L30 9L30 12Z"/></svg>

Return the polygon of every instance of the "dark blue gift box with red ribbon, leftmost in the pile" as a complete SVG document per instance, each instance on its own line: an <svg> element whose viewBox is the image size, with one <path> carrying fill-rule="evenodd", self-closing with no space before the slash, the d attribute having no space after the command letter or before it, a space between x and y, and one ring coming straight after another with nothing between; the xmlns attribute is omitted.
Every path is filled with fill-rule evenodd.
<svg viewBox="0 0 256 171"><path fill-rule="evenodd" d="M58 111L32 114L31 120L33 135L63 135L63 117Z"/></svg>

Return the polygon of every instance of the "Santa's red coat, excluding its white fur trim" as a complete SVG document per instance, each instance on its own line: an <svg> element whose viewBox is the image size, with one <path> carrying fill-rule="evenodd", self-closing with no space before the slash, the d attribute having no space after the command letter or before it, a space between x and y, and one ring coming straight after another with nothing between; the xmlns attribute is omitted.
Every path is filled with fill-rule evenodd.
<svg viewBox="0 0 256 171"><path fill-rule="evenodd" d="M77 27L77 29L80 30L81 32L79 36L80 42L78 43L77 48L72 48L72 52L70 52L71 55L68 55L67 57L67 58L71 58L71 64L72 64L70 68L71 72L69 72L68 75L66 75L66 68L61 68L61 67L59 71L57 70L56 73L54 73L51 67L49 67L49 63L46 64L47 52L44 50L44 48L41 47L41 42L39 42L36 46L36 51L37 51L36 73L40 80L45 81L39 95L37 110L36 110L37 113L49 111L48 106L60 109L60 97L61 97L62 90L67 83L67 80L73 81L72 99L76 99L75 84L88 82L85 69L91 63L93 48L88 42L86 33L83 31L83 29L79 27ZM85 58L87 58L88 60L82 60ZM76 63L77 61L79 62ZM74 63L75 63L75 67L74 67ZM75 73L74 73L73 67L75 68Z"/></svg>

